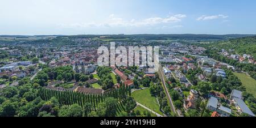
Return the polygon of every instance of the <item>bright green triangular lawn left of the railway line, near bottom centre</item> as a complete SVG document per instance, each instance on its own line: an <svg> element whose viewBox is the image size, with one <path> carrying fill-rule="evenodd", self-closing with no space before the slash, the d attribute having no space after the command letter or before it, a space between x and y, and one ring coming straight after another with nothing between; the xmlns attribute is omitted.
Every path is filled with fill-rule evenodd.
<svg viewBox="0 0 256 128"><path fill-rule="evenodd" d="M154 110L156 113L163 115L163 113L159 110L160 106L156 101L156 97L151 96L149 88L134 91L131 95L136 101L138 101L138 103L141 103L142 105L147 106L151 110Z"/></svg>

